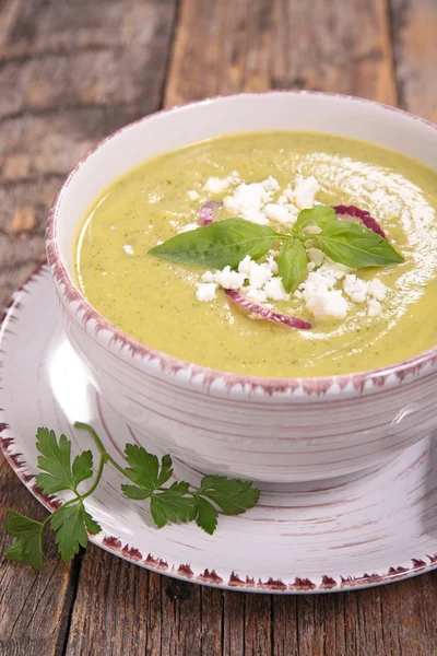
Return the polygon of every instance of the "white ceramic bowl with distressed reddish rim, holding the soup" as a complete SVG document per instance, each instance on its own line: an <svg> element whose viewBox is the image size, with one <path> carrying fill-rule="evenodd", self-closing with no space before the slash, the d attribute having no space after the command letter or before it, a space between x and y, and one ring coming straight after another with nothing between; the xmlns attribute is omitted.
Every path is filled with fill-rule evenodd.
<svg viewBox="0 0 437 656"><path fill-rule="evenodd" d="M437 348L382 370L323 378L212 371L141 344L74 284L74 242L101 191L147 157L261 129L319 130L393 148L437 168L437 128L369 101L308 92L243 94L140 119L72 171L51 209L47 258L68 338L137 434L204 472L305 481L376 465L437 426ZM123 446L123 445L120 445Z"/></svg>

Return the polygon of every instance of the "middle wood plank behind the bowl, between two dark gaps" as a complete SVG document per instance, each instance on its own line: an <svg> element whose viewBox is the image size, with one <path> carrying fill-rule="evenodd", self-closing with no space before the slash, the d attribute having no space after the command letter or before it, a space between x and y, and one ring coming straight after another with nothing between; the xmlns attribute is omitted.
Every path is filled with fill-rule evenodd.
<svg viewBox="0 0 437 656"><path fill-rule="evenodd" d="M182 0L167 105L293 87L395 104L386 0Z"/></svg>

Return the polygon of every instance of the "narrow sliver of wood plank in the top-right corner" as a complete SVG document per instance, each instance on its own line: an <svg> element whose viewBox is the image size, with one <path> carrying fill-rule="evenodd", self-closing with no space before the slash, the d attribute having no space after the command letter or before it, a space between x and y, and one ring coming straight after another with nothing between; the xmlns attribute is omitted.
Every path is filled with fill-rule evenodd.
<svg viewBox="0 0 437 656"><path fill-rule="evenodd" d="M437 122L437 3L390 0L399 104Z"/></svg>

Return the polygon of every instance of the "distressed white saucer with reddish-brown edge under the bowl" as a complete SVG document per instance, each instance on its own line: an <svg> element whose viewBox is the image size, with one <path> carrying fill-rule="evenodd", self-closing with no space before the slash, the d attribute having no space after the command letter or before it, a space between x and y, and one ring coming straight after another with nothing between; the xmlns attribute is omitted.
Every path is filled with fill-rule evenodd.
<svg viewBox="0 0 437 656"><path fill-rule="evenodd" d="M119 460L135 435L87 383L63 335L46 266L14 294L2 319L1 446L27 489L54 507L33 478L37 426L64 432L78 453L93 445L71 424L91 423ZM103 527L92 541L151 570L232 589L320 593L405 578L437 566L436 446L424 441L347 479L262 489L256 508L221 516L212 537L194 524L156 530L146 503L126 499L120 475L107 466L87 504ZM199 480L181 462L175 473Z"/></svg>

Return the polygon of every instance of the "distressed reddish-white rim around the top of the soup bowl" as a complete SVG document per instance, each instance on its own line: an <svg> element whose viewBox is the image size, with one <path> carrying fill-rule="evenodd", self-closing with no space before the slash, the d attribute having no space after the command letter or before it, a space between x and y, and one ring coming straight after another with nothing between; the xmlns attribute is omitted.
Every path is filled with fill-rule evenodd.
<svg viewBox="0 0 437 656"><path fill-rule="evenodd" d="M84 329L86 333L90 337L92 337L95 341L102 341L98 339L102 330L108 331L110 338L107 341L107 343L103 345L104 348L109 349L110 351L113 351L114 349L116 355L122 356L123 360L128 360L131 363L133 363L133 358L138 355L142 360L146 360L146 362L157 361L161 364L161 370L163 374L179 374L180 372L186 372L189 375L191 383L199 384L200 386L204 386L206 382L208 387L210 387L213 382L221 379L225 382L225 386L228 391L232 388L234 388L234 386L241 386L243 389L247 389L249 391L253 390L255 388L258 388L268 393L269 395L272 395L277 393L283 394L286 391L294 391L296 388L303 387L304 390L310 395L320 395L327 393L333 385L336 385L338 389L342 391L346 387L350 387L352 383L353 389L355 389L355 391L363 393L365 389L368 390L374 386L381 387L387 383L387 379L389 377L392 383L394 380L395 384L400 384L406 375L412 375L415 377L420 374L423 374L424 368L429 370L429 367L432 367L433 365L437 365L437 344L426 351L422 351L417 355L413 355L409 359L401 360L386 366L365 370L363 372L356 373L336 375L331 374L326 376L257 376L221 371L206 367L200 364L190 363L175 355L165 353L164 351L160 351L158 349L149 347L138 341L133 337L130 337L120 328L111 324L99 312L97 312L94 308L94 306L85 298L85 296L79 291L78 286L69 276L67 267L63 263L57 241L58 220L62 209L62 197L64 190L72 181L75 174L97 150L105 147L105 144L108 141L120 136L125 130L131 129L133 126L143 124L160 115L177 114L178 112L184 112L186 108L189 107L201 107L202 105L209 105L214 102L221 102L226 99L232 101L236 97L251 98L255 96L267 95L290 95L292 97L297 95L310 95L330 97L333 99L338 98L340 101L352 101L368 106L377 106L383 110L394 112L397 114L405 116L408 119L416 120L421 124L426 125L429 128L437 130L437 125L433 124L432 121L416 116L414 114L411 114L409 112L405 112L404 109L393 107L391 105L387 105L368 98L362 98L358 96L308 90L274 90L264 92L244 92L229 95L216 95L200 101L192 101L184 105L167 107L140 117L115 130L109 136L105 137L83 155L83 157L78 162L78 164L70 171L66 180L59 188L58 194L50 208L46 229L46 255L51 277L64 304L67 306L70 306L70 313L75 318L78 317L78 313L82 312ZM71 309L71 303L78 303L78 307L74 312ZM94 328L91 330L88 328L90 320L93 320L92 323L94 325ZM152 371L150 371L150 373L152 373ZM202 374L201 380L199 374Z"/></svg>

